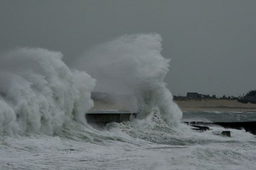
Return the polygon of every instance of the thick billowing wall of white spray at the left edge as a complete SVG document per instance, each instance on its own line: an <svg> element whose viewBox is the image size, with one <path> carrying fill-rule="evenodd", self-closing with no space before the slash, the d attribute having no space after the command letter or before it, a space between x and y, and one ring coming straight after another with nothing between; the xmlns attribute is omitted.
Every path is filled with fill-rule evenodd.
<svg viewBox="0 0 256 170"><path fill-rule="evenodd" d="M17 48L0 57L0 134L58 133L83 121L95 80L71 71L60 52Z"/></svg>

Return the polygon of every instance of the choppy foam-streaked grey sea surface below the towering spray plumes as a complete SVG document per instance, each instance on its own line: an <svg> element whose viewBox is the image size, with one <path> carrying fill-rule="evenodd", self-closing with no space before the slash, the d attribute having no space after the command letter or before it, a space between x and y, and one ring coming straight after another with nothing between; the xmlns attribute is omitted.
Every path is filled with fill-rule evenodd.
<svg viewBox="0 0 256 170"><path fill-rule="evenodd" d="M181 121L256 121L256 113L184 112ZM256 136L222 127L169 127L160 115L97 130L75 121L58 135L0 136L0 170L255 170Z"/></svg>

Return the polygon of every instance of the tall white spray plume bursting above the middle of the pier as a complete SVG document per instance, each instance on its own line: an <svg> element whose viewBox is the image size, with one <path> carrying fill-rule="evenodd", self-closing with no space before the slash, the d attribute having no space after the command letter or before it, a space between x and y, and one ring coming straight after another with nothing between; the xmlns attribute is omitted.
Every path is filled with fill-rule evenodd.
<svg viewBox="0 0 256 170"><path fill-rule="evenodd" d="M123 35L87 52L75 66L97 79L97 91L125 94L125 105L141 117L159 111L169 125L179 125L182 112L164 82L170 59L161 56L161 41L159 34Z"/></svg>

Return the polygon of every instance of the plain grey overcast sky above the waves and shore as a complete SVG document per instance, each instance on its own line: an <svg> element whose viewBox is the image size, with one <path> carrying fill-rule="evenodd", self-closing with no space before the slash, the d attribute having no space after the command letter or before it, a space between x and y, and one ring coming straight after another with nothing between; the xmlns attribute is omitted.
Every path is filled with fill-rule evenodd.
<svg viewBox="0 0 256 170"><path fill-rule="evenodd" d="M174 95L256 88L255 0L1 0L0 51L61 51L67 65L122 34L156 32Z"/></svg>

